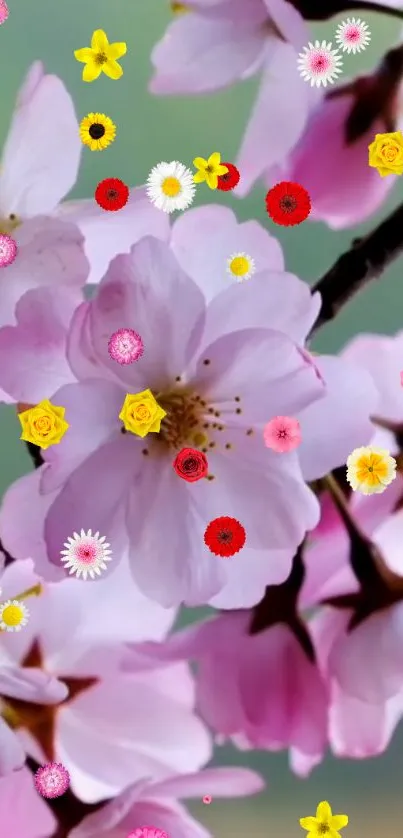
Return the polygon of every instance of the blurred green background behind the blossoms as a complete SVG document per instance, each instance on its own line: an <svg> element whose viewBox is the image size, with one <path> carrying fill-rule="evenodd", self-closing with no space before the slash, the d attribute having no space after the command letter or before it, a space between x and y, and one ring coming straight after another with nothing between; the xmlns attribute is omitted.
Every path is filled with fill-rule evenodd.
<svg viewBox="0 0 403 838"><path fill-rule="evenodd" d="M38 58L48 72L63 79L73 96L79 119L89 111L98 110L111 116L118 126L117 140L102 155L83 150L80 177L71 197L90 197L98 181L111 175L130 185L142 184L151 167L160 160L177 159L191 165L196 155L208 156L214 150L219 150L224 160L235 158L257 79L194 99L156 98L147 92L151 48L171 17L166 0L9 0L9 7L9 20L0 30L0 140L6 136L24 74ZM342 19L335 18L315 27L314 34L332 40L334 28ZM387 15L365 13L364 19L369 23L372 41L361 56L345 58L347 75L371 70L385 49L399 37L400 23ZM122 59L124 75L119 84L104 76L90 85L81 80L83 65L74 60L73 50L88 46L97 28L103 28L111 41L127 42L127 56ZM63 137L55 135L54 141L63 143ZM198 190L198 196L199 203L207 203L210 198L207 190ZM289 231L275 228L271 232L283 244L288 269L312 283L349 246L352 238L362 230L371 229L402 197L399 182L379 216L362 228L334 233L322 224L307 222ZM243 201L231 198L230 194L214 196L213 200L217 199L232 206L240 220L255 218L265 226L269 223L262 187L257 187ZM7 278L2 277L2 281ZM323 330L315 348L333 352L359 331L392 333L400 329L402 304L398 261L382 282L367 289L336 323ZM0 408L0 493L31 467L19 442L19 433L14 410ZM314 814L319 800L328 799L334 811L349 814L351 838L364 834L371 838L379 835L394 838L401 833L403 814L402 744L403 737L396 736L385 756L369 761L328 758L306 781L297 780L289 773L284 754L241 755L220 748L219 763L231 761L261 770L268 780L267 794L245 801L213 800L211 806L200 803L193 810L216 836L247 833L253 838L267 835L288 838L302 835L299 817ZM208 788L205 793L209 793Z"/></svg>

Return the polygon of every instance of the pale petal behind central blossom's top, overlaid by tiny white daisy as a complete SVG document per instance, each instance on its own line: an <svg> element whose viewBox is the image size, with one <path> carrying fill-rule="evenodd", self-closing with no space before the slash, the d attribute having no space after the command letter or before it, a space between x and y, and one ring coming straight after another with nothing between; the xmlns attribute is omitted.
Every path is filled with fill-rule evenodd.
<svg viewBox="0 0 403 838"><path fill-rule="evenodd" d="M209 242L208 247L206 241ZM257 221L239 224L232 210L214 204L191 209L176 219L172 227L171 248L188 276L202 289L207 301L234 285L234 280L227 271L227 259L233 253L246 253L254 259L257 274L284 269L281 246L264 227ZM253 282L256 279L257 276L254 276ZM269 284L272 287L273 283ZM263 287L263 282L260 286ZM249 298L247 293L242 294L244 289L236 290L238 299L244 301L245 296ZM283 295L287 296L284 283L282 291ZM235 300L235 295L233 299ZM276 301L272 300L271 305L274 309ZM231 307L228 309L228 315L230 319L234 317ZM228 331L232 331L226 321L221 323L221 326L224 325ZM262 322L245 325L269 324ZM276 328L280 328L278 323Z"/></svg>

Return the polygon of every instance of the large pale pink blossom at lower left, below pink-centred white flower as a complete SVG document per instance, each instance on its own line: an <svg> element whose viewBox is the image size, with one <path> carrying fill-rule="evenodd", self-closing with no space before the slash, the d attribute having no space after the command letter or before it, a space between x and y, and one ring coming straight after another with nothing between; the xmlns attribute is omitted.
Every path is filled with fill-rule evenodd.
<svg viewBox="0 0 403 838"><path fill-rule="evenodd" d="M58 705L54 761L68 771L74 794L89 803L112 797L144 776L162 780L172 773L197 771L211 756L210 737L194 714L194 685L187 665L164 665L138 674L121 670L122 641L144 637L150 633L147 626L161 637L172 622L172 613L167 620L162 609L143 604L141 597L138 603L133 599L135 589L127 590L128 571L119 575L121 565L118 580L110 576L106 587L100 581L95 597L89 591L92 586L76 579L44 585L40 596L29 601L24 631L15 640L7 639L10 663L0 668L5 700L53 700ZM3 573L2 596L20 593L37 581L30 560L14 562ZM139 624L141 614L145 626ZM35 640L40 668L22 668ZM5 654L2 649L0 653ZM63 683L69 678L93 678L94 683L69 698ZM39 764L49 762L40 736L27 733L17 738L2 721L0 769L13 767L4 765L11 739L18 746L20 765L24 751Z"/></svg>

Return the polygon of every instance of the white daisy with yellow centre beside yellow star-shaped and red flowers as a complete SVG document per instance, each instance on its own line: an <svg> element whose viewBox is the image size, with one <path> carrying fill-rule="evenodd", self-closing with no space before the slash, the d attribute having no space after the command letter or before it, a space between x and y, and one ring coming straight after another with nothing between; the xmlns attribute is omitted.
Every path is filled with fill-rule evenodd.
<svg viewBox="0 0 403 838"><path fill-rule="evenodd" d="M147 178L147 195L163 212L190 207L196 192L193 174L183 163L158 163Z"/></svg>

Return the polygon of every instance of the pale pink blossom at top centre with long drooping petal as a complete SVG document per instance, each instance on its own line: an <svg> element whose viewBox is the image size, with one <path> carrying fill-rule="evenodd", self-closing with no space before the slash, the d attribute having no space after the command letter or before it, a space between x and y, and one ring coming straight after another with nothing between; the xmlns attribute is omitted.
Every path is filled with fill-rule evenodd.
<svg viewBox="0 0 403 838"><path fill-rule="evenodd" d="M305 22L284 0L198 0L173 19L154 47L150 90L156 94L205 93L262 71L237 161L241 180L234 191L240 196L284 159L304 130L312 93L301 83L296 62L308 40ZM273 113L281 125L275 132Z"/></svg>

